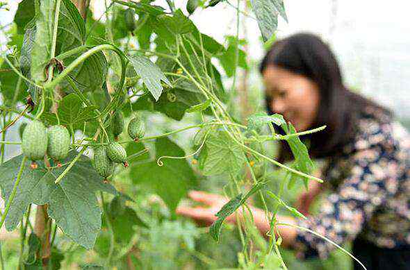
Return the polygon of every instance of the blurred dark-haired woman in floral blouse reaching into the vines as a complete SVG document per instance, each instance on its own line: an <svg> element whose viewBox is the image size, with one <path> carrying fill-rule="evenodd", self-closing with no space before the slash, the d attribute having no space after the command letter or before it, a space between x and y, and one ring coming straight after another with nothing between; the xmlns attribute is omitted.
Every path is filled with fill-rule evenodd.
<svg viewBox="0 0 410 270"><path fill-rule="evenodd" d="M341 71L329 47L315 35L300 33L279 40L261 63L266 104L298 131L327 125L324 132L302 137L312 158L326 160L322 179L311 182L300 201L306 212L322 186L331 194L319 213L307 221L278 217L314 230L338 244L353 242L353 254L368 269L410 269L410 136L391 112L354 94L343 85ZM290 151L281 145L280 160ZM177 211L212 223L226 199L205 192L190 197L207 207ZM252 208L256 226L265 235L269 223L262 210ZM235 219L229 219L235 222ZM278 230L285 246L304 258L325 258L328 242L289 226ZM355 262L355 269L360 269Z"/></svg>

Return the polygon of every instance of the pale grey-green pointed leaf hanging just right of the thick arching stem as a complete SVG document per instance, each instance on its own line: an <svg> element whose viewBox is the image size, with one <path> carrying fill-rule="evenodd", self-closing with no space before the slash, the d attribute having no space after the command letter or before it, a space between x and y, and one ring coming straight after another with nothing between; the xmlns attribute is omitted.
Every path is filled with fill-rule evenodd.
<svg viewBox="0 0 410 270"><path fill-rule="evenodd" d="M151 60L144 56L129 56L129 61L131 62L131 65L133 65L138 76L141 77L142 82L145 83L149 92L154 96L154 99L158 101L159 96L161 96L161 93L163 92L161 81L171 85L170 81L168 81L167 77L165 77L159 67L154 65Z"/></svg>

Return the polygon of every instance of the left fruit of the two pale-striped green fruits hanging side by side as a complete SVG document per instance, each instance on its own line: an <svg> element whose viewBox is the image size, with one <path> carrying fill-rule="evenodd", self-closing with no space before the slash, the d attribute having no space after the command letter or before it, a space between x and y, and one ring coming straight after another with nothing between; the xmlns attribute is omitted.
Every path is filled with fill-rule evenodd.
<svg viewBox="0 0 410 270"><path fill-rule="evenodd" d="M37 168L35 160L44 158L47 151L47 131L42 122L33 120L24 128L22 151L29 160L33 161L31 167Z"/></svg>

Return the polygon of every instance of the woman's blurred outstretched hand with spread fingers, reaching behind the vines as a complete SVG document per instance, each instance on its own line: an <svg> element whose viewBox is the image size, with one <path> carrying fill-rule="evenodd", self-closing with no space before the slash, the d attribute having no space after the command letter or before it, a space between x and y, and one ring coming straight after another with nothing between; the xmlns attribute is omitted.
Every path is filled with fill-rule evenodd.
<svg viewBox="0 0 410 270"><path fill-rule="evenodd" d="M197 223L209 226L218 217L215 216L222 206L227 203L229 200L224 196L218 194L211 194L208 192L199 192L199 191L190 191L188 196L192 201L197 201L202 203L202 206L190 207L190 206L179 206L177 208L177 214L181 214L185 217L190 217L194 219ZM227 217L227 221L234 222L235 214Z"/></svg>

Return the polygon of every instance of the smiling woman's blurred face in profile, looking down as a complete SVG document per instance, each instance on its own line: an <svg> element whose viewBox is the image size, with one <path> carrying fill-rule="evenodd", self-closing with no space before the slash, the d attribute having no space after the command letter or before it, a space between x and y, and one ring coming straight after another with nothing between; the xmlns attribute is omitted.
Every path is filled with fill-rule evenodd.
<svg viewBox="0 0 410 270"><path fill-rule="evenodd" d="M284 115L297 131L307 130L318 113L318 85L305 76L269 65L263 71L266 95L272 112Z"/></svg>

